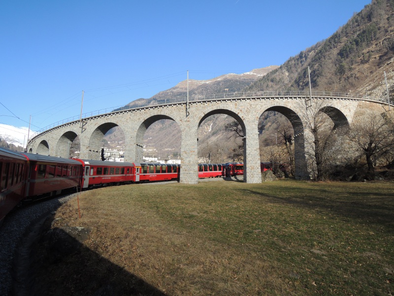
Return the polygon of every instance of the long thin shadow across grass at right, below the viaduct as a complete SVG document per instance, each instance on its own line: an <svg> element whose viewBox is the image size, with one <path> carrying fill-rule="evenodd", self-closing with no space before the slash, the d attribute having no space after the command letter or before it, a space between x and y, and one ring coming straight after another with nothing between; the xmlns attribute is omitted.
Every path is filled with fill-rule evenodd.
<svg viewBox="0 0 394 296"><path fill-rule="evenodd" d="M274 191L286 190L283 187L270 187ZM392 232L394 226L394 198L382 192L346 192L346 197L319 196L316 191L330 192L327 189L298 188L303 192L302 197L278 197L254 190L240 189L248 194L260 195L268 202L288 204L299 208L321 210L343 217L344 220L353 219L361 223L375 223ZM308 191L314 191L313 195Z"/></svg>

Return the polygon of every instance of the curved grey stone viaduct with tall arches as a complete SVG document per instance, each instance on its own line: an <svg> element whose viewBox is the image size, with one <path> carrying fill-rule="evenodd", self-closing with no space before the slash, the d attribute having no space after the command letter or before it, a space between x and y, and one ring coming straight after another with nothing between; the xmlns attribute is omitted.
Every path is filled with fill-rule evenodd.
<svg viewBox="0 0 394 296"><path fill-rule="evenodd" d="M80 157L99 159L100 142L105 133L119 126L125 135L125 161L142 162L143 136L148 127L160 120L170 119L179 126L181 135L180 182L197 184L197 129L202 121L213 114L227 114L236 119L244 132L244 182L261 183L258 121L265 111L277 111L285 115L293 125L295 135L296 178L310 178L305 144L308 132L305 106L309 96L251 96L169 103L135 108L84 118L46 130L32 138L28 151L39 154L67 157L69 141L80 139ZM387 104L360 98L312 96L319 102L321 111L327 113L334 128L347 128L355 121L362 122L365 110L378 113L387 111ZM309 101L311 102L311 101ZM329 111L329 112L328 112ZM310 138L309 138L310 139Z"/></svg>

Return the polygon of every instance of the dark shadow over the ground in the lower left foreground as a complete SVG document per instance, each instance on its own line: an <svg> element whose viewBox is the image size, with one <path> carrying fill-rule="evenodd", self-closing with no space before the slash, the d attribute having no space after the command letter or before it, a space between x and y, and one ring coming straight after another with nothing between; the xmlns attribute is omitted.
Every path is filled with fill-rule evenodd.
<svg viewBox="0 0 394 296"><path fill-rule="evenodd" d="M151 295L165 294L101 257L82 244L90 230L82 227L50 229L53 218L44 222L33 244L29 270L19 281L29 283L16 295ZM100 243L100 242L98 242ZM27 276L26 276L27 275Z"/></svg>

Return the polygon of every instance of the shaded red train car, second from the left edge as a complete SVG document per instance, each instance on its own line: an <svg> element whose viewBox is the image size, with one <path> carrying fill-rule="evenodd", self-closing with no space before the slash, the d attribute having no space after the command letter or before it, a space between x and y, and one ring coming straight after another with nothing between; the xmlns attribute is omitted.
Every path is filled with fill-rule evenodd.
<svg viewBox="0 0 394 296"><path fill-rule="evenodd" d="M33 153L21 153L28 161L26 196L60 194L80 185L82 166L74 160Z"/></svg>

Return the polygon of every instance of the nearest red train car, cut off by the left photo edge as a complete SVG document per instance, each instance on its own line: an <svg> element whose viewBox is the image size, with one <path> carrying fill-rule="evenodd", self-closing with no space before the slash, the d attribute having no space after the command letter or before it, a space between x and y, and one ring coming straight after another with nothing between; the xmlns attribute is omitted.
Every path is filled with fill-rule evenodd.
<svg viewBox="0 0 394 296"><path fill-rule="evenodd" d="M27 166L25 156L0 148L0 224L26 196Z"/></svg>

